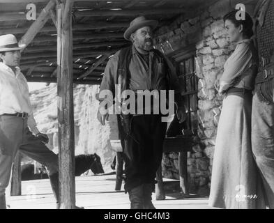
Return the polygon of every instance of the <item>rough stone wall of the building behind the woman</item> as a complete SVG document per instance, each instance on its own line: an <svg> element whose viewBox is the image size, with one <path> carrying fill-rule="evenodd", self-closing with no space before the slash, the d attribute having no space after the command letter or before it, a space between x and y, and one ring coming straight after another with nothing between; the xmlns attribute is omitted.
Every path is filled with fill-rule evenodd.
<svg viewBox="0 0 274 223"><path fill-rule="evenodd" d="M162 26L155 38L156 48L167 56L195 45L196 75L199 77L199 129L193 151L188 153L188 177L190 192L202 195L209 193L215 137L222 107L222 98L215 89L215 83L220 79L224 63L235 47L228 43L222 21L230 10L233 8L229 1L218 1L188 18L181 15L172 24ZM177 153L164 155L162 172L167 178L178 179Z"/></svg>

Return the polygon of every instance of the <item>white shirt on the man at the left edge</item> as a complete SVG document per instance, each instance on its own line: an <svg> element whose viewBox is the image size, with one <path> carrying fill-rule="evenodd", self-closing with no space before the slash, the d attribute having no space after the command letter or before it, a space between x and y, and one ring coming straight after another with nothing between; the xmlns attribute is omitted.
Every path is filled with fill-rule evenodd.
<svg viewBox="0 0 274 223"><path fill-rule="evenodd" d="M29 86L26 78L16 67L13 70L0 63L0 115L26 112L29 114L28 125L33 134L39 132L33 117L31 101L29 100Z"/></svg>

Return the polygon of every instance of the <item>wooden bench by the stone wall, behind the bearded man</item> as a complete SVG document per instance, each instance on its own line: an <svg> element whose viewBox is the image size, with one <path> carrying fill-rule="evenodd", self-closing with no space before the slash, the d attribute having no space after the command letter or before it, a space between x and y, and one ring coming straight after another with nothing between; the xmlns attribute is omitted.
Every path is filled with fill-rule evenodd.
<svg viewBox="0 0 274 223"><path fill-rule="evenodd" d="M180 187L183 195L188 195L188 151L192 150L192 138L183 135L168 137L163 144L163 152L178 152L178 171L180 176ZM165 199L164 183L162 181L162 165L160 165L155 186L156 200ZM115 190L121 190L123 181L123 153L116 152L116 185Z"/></svg>

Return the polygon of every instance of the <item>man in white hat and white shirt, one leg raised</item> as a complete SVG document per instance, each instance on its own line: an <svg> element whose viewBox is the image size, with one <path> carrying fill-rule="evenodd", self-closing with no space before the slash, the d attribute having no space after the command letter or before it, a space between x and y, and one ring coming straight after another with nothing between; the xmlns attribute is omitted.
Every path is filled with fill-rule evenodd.
<svg viewBox="0 0 274 223"><path fill-rule="evenodd" d="M6 209L5 190L18 150L47 167L59 208L58 156L45 146L49 139L33 118L29 88L19 68L24 47L12 34L0 36L0 209Z"/></svg>

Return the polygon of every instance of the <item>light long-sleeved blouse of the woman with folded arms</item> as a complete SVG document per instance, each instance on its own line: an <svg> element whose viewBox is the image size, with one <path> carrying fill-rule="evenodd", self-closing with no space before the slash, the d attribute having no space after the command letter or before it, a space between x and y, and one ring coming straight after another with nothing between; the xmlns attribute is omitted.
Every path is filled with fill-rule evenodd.
<svg viewBox="0 0 274 223"><path fill-rule="evenodd" d="M224 72L220 78L219 93L234 86L252 90L254 88L254 72L256 63L252 59L252 40L245 39L237 43L236 49L224 63Z"/></svg>

